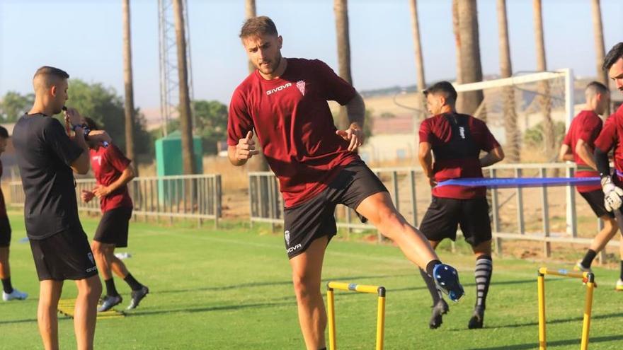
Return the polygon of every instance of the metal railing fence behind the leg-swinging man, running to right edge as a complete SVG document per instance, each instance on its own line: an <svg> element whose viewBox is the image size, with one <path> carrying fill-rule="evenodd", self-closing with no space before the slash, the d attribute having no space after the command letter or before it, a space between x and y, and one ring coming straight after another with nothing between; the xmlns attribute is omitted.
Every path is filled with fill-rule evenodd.
<svg viewBox="0 0 623 350"><path fill-rule="evenodd" d="M547 177L548 175L565 175L572 177L575 165L564 163L532 163L504 164L484 168L488 177ZM421 168L372 168L372 171L384 182L396 208L413 226L418 226L423 213L430 203L430 186ZM549 174L548 174L549 173ZM283 204L278 192L278 182L270 172L253 172L248 174L249 205L251 224L270 223L273 229L283 223ZM424 185L426 184L426 185ZM524 203L525 192L538 191L538 203L535 196L530 206ZM556 192L556 206L565 206L564 229L551 230L550 206L552 199L549 192ZM564 193L562 193L564 192ZM532 193L533 194L533 193ZM488 199L491 204L491 225L496 253L503 252L503 240L532 240L543 244L543 255L551 255L551 243L577 243L589 245L592 238L578 237L577 208L575 189L566 187L537 187L530 189L489 189ZM503 197L503 198L502 198ZM564 197L564 200L561 198ZM514 206L514 208L513 208ZM514 211L514 212L513 212ZM530 217L526 218L526 213ZM540 213L540 214L539 214ZM336 221L339 228L345 228L347 235L355 230L374 230L369 224L358 222L354 211L345 206L336 208ZM587 213L588 214L588 213ZM538 216L537 216L538 215ZM593 212L590 212L593 215ZM510 222L510 218L515 218ZM561 221L563 218L555 216ZM539 225L536 225L539 223ZM602 222L596 220L596 228L602 228ZM528 229L530 226L530 229ZM536 228L535 228L536 226ZM382 235L377 232L379 240ZM592 236L591 236L592 237ZM618 246L612 240L610 246ZM602 259L604 255L600 255Z"/></svg>

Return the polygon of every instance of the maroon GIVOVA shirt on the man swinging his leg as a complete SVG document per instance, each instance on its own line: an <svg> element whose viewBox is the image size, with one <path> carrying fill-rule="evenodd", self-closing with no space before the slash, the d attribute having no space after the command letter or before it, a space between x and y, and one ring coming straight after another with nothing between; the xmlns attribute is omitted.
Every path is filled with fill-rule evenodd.
<svg viewBox="0 0 623 350"><path fill-rule="evenodd" d="M317 59L287 59L279 78L256 70L234 91L227 125L229 146L255 129L268 165L277 175L285 206L311 199L344 165L359 156L336 135L327 100L345 105L355 88Z"/></svg>

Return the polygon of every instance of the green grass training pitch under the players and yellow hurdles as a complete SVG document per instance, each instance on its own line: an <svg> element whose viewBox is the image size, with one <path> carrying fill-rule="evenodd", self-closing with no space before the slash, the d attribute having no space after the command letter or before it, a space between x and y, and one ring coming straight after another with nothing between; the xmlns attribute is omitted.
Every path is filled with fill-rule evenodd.
<svg viewBox="0 0 623 350"><path fill-rule="evenodd" d="M38 280L23 218L11 216L13 284L30 293L27 301L0 302L0 349L40 349L36 322ZM93 234L97 221L84 218ZM230 226L234 226L230 224ZM159 226L132 223L127 259L151 293L127 317L101 320L96 349L303 349L290 267L281 235L242 225L215 231L211 224ZM509 243L510 244L510 243ZM462 273L467 296L450 305L440 329L428 329L430 297L416 269L396 247L334 240L324 279L381 284L387 288L386 349L537 348L538 262L494 259L485 329L469 330L474 304L469 255L441 252ZM548 267L568 267L551 263ZM613 291L617 272L597 269L590 349L622 349L623 293ZM130 290L118 280L129 302ZM323 288L324 289L324 288ZM575 279L546 283L549 347L578 349L585 287ZM71 281L63 297L76 295ZM124 306L125 307L125 306ZM376 298L336 291L338 346L374 349ZM72 320L59 319L62 349L74 349Z"/></svg>

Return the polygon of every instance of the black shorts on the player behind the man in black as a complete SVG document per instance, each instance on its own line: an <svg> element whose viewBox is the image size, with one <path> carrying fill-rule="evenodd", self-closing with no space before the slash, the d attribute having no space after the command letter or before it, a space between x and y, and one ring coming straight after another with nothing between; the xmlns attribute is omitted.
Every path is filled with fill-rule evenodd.
<svg viewBox="0 0 623 350"><path fill-rule="evenodd" d="M113 244L115 247L127 247L127 230L132 218L132 207L106 211L98 225L93 240L99 243Z"/></svg>

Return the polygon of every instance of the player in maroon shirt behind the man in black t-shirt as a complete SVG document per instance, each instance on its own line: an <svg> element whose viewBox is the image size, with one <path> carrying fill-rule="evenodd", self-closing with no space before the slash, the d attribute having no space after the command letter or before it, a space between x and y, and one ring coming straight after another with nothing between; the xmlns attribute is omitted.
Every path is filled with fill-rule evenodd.
<svg viewBox="0 0 623 350"><path fill-rule="evenodd" d="M86 126L98 130L96 122L85 118ZM106 296L101 301L98 312L110 310L121 303L122 298L115 287L113 273L121 277L132 288L132 301L128 309L136 308L147 296L149 288L137 281L125 264L115 257L115 248L127 247L127 231L132 218L132 198L127 192L127 182L135 177L130 159L125 158L121 150L114 144L108 147L89 143L91 168L97 180L97 186L91 191L82 190L81 198L90 202L93 197L100 199L102 219L98 225L91 249L100 273L106 285Z"/></svg>

